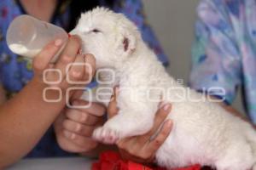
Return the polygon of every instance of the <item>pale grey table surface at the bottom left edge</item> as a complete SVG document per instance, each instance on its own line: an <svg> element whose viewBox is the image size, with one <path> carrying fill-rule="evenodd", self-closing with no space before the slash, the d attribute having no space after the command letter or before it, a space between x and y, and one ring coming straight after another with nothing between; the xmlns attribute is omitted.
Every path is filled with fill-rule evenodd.
<svg viewBox="0 0 256 170"><path fill-rule="evenodd" d="M92 162L82 157L24 159L7 170L90 170Z"/></svg>

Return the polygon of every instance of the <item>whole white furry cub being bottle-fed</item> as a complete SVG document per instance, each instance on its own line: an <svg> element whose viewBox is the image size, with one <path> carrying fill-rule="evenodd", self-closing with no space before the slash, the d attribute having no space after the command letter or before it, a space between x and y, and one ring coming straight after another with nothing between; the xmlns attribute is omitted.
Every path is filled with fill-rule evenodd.
<svg viewBox="0 0 256 170"><path fill-rule="evenodd" d="M256 170L253 127L218 104L200 101L202 94L175 82L143 42L137 27L123 14L95 8L82 14L73 33L82 38L84 53L95 55L96 69L113 69L115 81L104 86L113 88L118 84L120 88L119 114L95 130L95 139L114 143L148 132L158 110L156 99L163 99L172 103L168 118L174 124L156 153L160 166L200 163L218 170ZM101 74L100 77L109 76L107 71ZM189 89L190 98L180 99L180 89ZM110 95L104 98L109 100Z"/></svg>

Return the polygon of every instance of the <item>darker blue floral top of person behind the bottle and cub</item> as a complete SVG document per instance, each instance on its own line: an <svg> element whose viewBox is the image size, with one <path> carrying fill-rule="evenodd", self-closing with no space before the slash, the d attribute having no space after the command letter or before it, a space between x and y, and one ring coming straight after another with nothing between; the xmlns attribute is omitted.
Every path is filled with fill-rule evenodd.
<svg viewBox="0 0 256 170"><path fill-rule="evenodd" d="M68 1L67 1L68 2ZM63 3L60 11L57 11L51 22L57 26L67 26L69 14L68 5ZM100 5L105 5L104 0ZM66 7L66 8L65 8ZM148 42L148 46L154 49L154 52L159 56L160 61L164 65L168 64L168 59L164 54L160 43L154 37L154 32L146 23L143 14L143 4L140 0L116 0L113 4L113 10L124 13L128 18L134 21L143 33L143 39ZM9 97L18 93L32 77L32 65L23 59L22 56L13 54L5 41L6 31L14 18L20 14L24 14L22 8L15 0L0 1L0 82L5 88ZM43 139L32 150L28 157L49 157L49 156L72 156L71 154L61 150L56 144L55 133L50 127L45 133Z"/></svg>

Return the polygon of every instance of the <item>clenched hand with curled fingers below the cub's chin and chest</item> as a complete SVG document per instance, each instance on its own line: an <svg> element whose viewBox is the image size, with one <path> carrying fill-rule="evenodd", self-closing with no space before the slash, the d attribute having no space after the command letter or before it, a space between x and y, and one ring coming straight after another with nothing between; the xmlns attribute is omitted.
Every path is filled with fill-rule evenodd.
<svg viewBox="0 0 256 170"><path fill-rule="evenodd" d="M82 99L73 101L73 105L88 105ZM61 149L84 153L93 150L97 142L91 139L94 129L104 122L106 109L103 105L92 103L87 109L66 109L55 121L55 133Z"/></svg>

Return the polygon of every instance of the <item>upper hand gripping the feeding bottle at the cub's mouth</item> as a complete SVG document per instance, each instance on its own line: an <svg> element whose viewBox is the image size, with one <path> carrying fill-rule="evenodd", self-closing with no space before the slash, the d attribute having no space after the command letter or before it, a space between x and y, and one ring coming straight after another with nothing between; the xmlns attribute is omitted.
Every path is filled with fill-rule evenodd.
<svg viewBox="0 0 256 170"><path fill-rule="evenodd" d="M63 43L61 39L49 42L33 59L33 79L46 86L61 88L61 91L65 92L67 88L78 86L78 84L69 83L67 77L73 82L90 82L95 74L96 61L91 54L78 54L80 39L77 36L72 36L68 39L67 45L56 63L50 64L50 60L58 53ZM88 65L86 69L85 64ZM53 70L49 71L48 69ZM58 83L49 84L48 82ZM84 87L84 84L82 86ZM70 94L70 96L72 95Z"/></svg>

